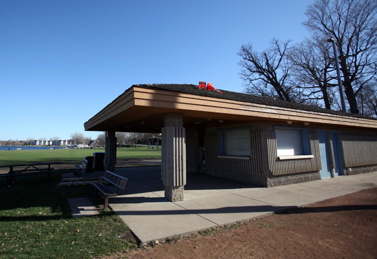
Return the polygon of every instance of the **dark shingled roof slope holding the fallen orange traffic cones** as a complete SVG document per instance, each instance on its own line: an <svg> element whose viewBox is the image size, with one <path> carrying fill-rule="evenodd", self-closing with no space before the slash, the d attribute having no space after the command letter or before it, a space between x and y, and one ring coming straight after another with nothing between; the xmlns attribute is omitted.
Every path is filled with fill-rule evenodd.
<svg viewBox="0 0 377 259"><path fill-rule="evenodd" d="M193 84L135 84L135 85L132 85L132 87L134 86L147 88L147 89L157 89L157 90L194 94L198 96L207 96L207 97L212 97L212 98L227 99L227 100L240 101L240 102L249 102L253 104L270 105L270 106L290 108L290 109L303 110L303 111L313 111L316 113L327 113L327 114L334 114L334 115L340 115L340 116L349 116L349 117L377 120L376 118L363 116L360 114L345 113L343 111L334 111L334 110L319 108L312 105L304 105L304 104L298 104L295 102L287 102L280 99L257 96L253 94L237 93L237 92L231 92L231 91L226 91L222 89L219 89L220 91L222 91L222 94L216 93L214 91L199 90L199 89L196 89L195 88L196 85L193 85Z"/></svg>

